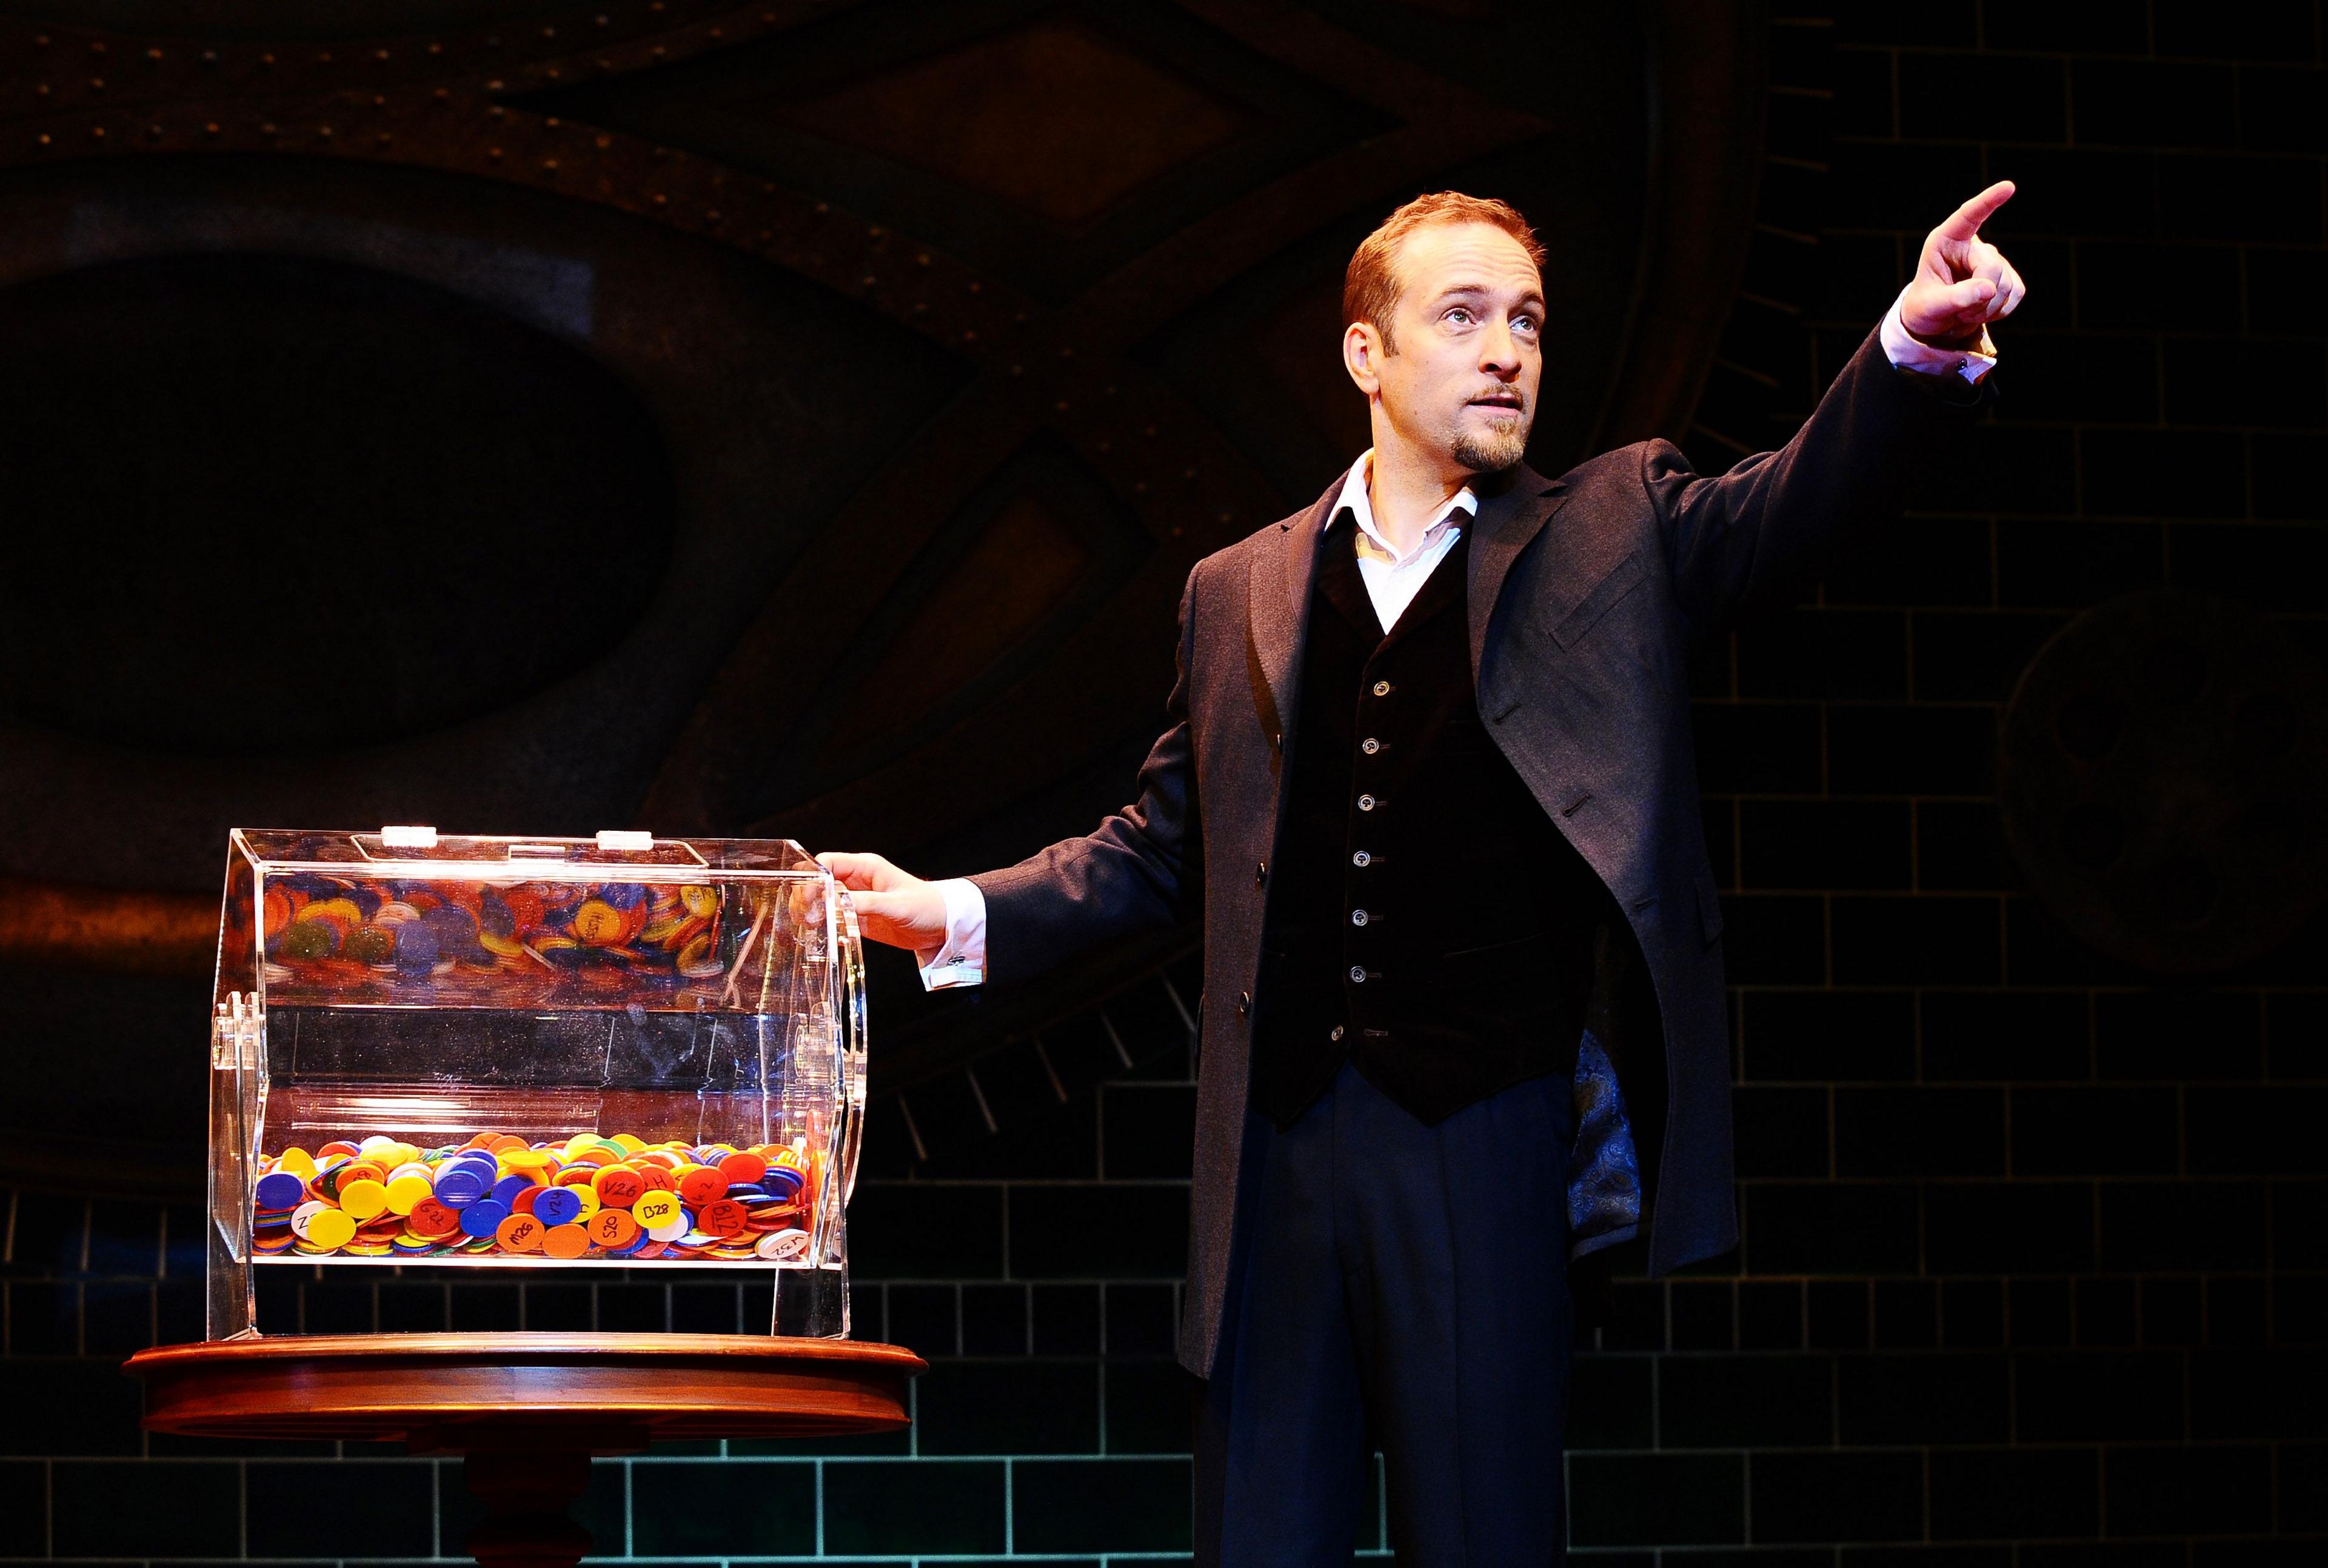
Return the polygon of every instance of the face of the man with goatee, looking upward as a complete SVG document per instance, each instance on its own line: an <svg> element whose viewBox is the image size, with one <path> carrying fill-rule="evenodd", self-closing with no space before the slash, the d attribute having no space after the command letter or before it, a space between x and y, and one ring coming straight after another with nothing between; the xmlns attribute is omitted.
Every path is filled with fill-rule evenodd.
<svg viewBox="0 0 2328 1568"><path fill-rule="evenodd" d="M1383 414L1467 472L1527 451L1543 377L1543 279L1490 223L1432 223L1399 247L1392 347L1376 356Z"/></svg>

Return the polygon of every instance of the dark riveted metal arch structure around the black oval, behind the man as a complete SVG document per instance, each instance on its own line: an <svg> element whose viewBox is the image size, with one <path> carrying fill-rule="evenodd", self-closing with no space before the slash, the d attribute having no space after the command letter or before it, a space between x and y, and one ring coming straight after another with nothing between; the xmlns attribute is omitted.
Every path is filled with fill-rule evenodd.
<svg viewBox="0 0 2328 1568"><path fill-rule="evenodd" d="M63 1038L54 977L123 977L116 1038L163 1079L165 998L207 970L228 819L417 800L468 826L533 810L875 844L934 872L1073 831L1148 740L1187 568L1306 500L1362 433L1355 400L1332 407L1329 337L1357 235L1448 184L1550 202L1534 216L1576 354L1534 456L1557 468L1688 433L1762 177L1769 28L1711 0L1583 7L1590 23L1502 0L552 0L482 23L426 0L244 0L198 37L119 21L147 9L0 21L0 209L40 219L0 242L0 307L91 258L189 247L426 272L645 400L675 470L673 575L691 575L610 628L608 658L503 712L328 754L149 756L0 712L21 824L0 844L0 982L49 977L35 1028ZM1045 70L1120 84L1122 114L1078 133L945 107L964 81ZM903 144L913 114L852 130L899 105L978 135ZM1076 163L1117 133L1096 177ZM452 261L428 249L442 235ZM596 316L487 265L512 247L587 251ZM1318 372L1290 370L1315 323ZM843 402L873 386L894 405L819 409L796 365L724 395L782 351L833 365ZM759 451L754 421L792 414L794 447ZM5 528L44 519L9 503ZM1148 984L1190 940L975 1005L931 1007L892 968L875 1093ZM105 1114L51 1089L33 1114Z"/></svg>

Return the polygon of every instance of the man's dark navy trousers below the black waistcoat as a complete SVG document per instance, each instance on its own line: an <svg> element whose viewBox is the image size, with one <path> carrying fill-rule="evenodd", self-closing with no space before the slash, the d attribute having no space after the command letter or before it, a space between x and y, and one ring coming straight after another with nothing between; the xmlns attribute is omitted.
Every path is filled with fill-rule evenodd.
<svg viewBox="0 0 2328 1568"><path fill-rule="evenodd" d="M1560 1561L1569 1096L1422 1126L1343 1065L1290 1131L1248 1117L1199 1563L1343 1568L1374 1447L1406 1568Z"/></svg>

